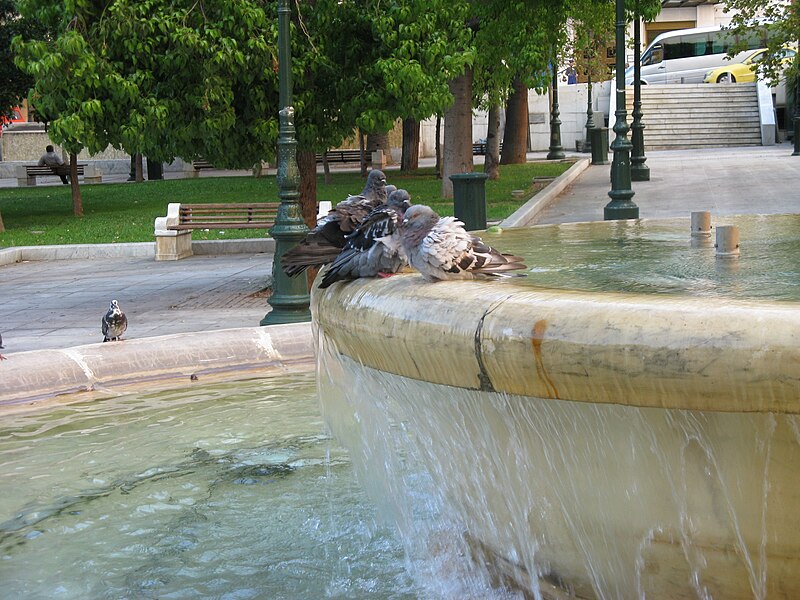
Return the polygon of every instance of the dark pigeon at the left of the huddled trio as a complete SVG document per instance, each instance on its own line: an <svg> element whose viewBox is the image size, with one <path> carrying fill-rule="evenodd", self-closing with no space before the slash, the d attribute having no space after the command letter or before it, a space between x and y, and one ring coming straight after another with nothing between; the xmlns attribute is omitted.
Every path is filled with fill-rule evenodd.
<svg viewBox="0 0 800 600"><path fill-rule="evenodd" d="M367 176L363 191L348 196L327 215L306 237L281 257L283 271L294 277L308 267L321 267L336 259L344 248L347 234L352 233L372 209L386 202L386 175L374 169Z"/></svg>

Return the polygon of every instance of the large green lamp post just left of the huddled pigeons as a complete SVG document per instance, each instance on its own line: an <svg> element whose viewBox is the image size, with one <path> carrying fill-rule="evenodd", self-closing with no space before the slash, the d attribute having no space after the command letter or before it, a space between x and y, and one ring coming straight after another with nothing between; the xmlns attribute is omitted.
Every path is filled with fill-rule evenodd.
<svg viewBox="0 0 800 600"><path fill-rule="evenodd" d="M280 77L280 131L278 137L278 197L281 204L270 235L275 240L272 261L272 310L261 325L300 323L311 320L310 296L305 277L289 277L281 268L281 257L302 240L308 227L300 212L300 173L297 169L297 140L292 108L291 41L289 37L289 0L278 0L278 65Z"/></svg>

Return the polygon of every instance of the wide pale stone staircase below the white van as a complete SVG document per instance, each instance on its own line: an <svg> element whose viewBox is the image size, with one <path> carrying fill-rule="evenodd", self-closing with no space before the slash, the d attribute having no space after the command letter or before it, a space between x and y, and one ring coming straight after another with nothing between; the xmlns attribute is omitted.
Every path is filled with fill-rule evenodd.
<svg viewBox="0 0 800 600"><path fill-rule="evenodd" d="M641 89L647 149L761 145L755 83L643 85ZM630 124L633 87L625 95Z"/></svg>

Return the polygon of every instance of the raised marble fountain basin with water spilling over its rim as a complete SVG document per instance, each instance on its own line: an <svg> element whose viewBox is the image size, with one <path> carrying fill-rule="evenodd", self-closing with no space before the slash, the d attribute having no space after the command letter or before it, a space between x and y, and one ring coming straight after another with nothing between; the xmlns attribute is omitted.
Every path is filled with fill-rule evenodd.
<svg viewBox="0 0 800 600"><path fill-rule="evenodd" d="M531 598L800 595L800 217L728 221L735 260L583 223L485 236L527 280L314 290L323 413L407 551Z"/></svg>

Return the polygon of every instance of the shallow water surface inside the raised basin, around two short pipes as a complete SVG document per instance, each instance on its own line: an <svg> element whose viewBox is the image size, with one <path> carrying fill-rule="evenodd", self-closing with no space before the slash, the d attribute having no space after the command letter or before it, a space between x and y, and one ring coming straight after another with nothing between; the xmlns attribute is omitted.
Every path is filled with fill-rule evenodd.
<svg viewBox="0 0 800 600"><path fill-rule="evenodd" d="M712 215L713 217L713 215ZM525 257L520 282L587 291L800 300L800 215L712 218L740 228L739 258L718 259L714 235L689 219L568 223L482 235Z"/></svg>

